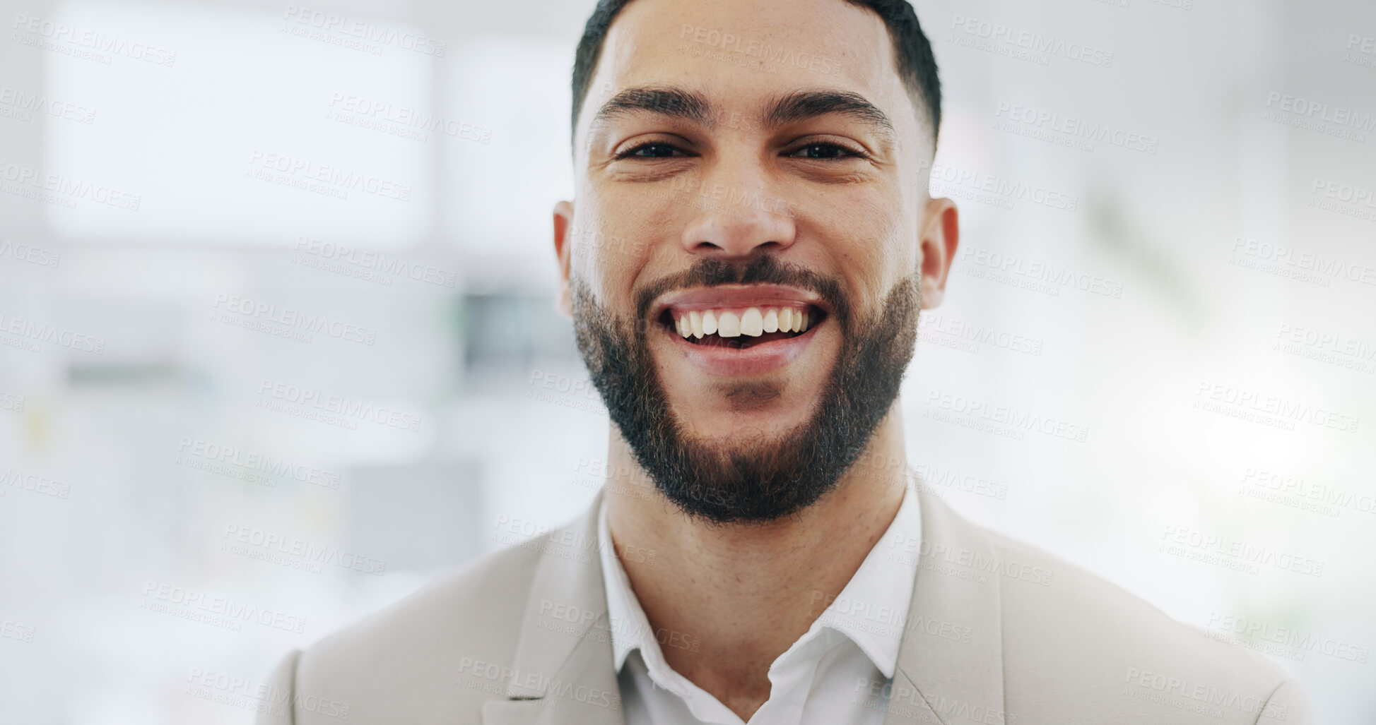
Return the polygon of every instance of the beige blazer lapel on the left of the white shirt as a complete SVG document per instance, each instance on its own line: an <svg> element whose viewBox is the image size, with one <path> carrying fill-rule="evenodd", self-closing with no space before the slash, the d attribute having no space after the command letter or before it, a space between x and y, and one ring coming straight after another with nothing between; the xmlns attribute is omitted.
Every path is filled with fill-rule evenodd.
<svg viewBox="0 0 1376 725"><path fill-rule="evenodd" d="M484 725L623 725L597 543L603 494L544 546L522 615L505 700Z"/></svg>

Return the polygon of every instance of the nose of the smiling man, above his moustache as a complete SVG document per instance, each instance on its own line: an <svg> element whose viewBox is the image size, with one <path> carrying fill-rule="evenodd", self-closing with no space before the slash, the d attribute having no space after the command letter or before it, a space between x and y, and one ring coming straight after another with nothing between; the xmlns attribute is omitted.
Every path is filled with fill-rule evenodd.
<svg viewBox="0 0 1376 725"><path fill-rule="evenodd" d="M684 249L695 256L749 259L793 246L793 213L769 194L768 184L746 173L717 176L694 194L698 213L684 228Z"/></svg>

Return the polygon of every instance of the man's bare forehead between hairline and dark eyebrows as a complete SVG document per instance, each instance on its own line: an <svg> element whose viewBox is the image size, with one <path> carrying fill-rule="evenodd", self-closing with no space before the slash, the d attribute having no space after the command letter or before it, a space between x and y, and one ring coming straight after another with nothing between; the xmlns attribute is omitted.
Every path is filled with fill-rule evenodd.
<svg viewBox="0 0 1376 725"><path fill-rule="evenodd" d="M900 139L919 121L883 21L845 0L634 0L612 22L589 85L589 118L626 88L698 89L716 113L757 116L799 89L854 92Z"/></svg>

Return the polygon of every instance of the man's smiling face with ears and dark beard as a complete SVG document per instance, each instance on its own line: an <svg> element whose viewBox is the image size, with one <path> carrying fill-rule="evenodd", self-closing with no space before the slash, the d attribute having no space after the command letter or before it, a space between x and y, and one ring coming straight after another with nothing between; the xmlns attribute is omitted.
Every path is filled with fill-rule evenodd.
<svg viewBox="0 0 1376 725"><path fill-rule="evenodd" d="M883 22L841 0L636 0L575 139L564 304L637 459L711 520L812 504L892 407L919 286L938 301L955 246Z"/></svg>

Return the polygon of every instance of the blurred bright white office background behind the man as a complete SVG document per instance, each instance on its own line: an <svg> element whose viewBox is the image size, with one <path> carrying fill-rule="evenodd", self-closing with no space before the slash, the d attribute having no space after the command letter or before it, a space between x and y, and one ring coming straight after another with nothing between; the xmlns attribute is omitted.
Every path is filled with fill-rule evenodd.
<svg viewBox="0 0 1376 725"><path fill-rule="evenodd" d="M245 722L588 504L550 209L592 6L7 3L0 722ZM1376 6L916 7L963 239L912 465L1376 721Z"/></svg>

